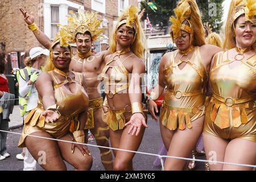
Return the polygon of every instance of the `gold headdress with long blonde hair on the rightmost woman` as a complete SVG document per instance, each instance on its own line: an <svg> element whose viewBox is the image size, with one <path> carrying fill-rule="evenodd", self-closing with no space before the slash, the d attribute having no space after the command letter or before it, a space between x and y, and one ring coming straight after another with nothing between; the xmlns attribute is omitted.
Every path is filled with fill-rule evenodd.
<svg viewBox="0 0 256 182"><path fill-rule="evenodd" d="M241 15L245 15L245 20L253 22L256 16L256 0L233 0L229 7L229 14L226 21L224 48L236 47L235 21Z"/></svg>

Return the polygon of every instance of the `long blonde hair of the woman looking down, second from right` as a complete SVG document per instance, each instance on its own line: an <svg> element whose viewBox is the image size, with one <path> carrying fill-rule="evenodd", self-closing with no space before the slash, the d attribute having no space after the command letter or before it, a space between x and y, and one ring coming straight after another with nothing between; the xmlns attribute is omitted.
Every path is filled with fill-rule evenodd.
<svg viewBox="0 0 256 182"><path fill-rule="evenodd" d="M185 16L189 16L187 20L191 23L192 28L192 44L193 46L203 46L205 44L204 27L201 21L199 7L195 0L181 0L177 3L176 9L182 8L186 10ZM184 22L185 23L185 22ZM174 26L175 27L175 26ZM175 27L176 28L176 27ZM180 28L180 27L177 27Z"/></svg>

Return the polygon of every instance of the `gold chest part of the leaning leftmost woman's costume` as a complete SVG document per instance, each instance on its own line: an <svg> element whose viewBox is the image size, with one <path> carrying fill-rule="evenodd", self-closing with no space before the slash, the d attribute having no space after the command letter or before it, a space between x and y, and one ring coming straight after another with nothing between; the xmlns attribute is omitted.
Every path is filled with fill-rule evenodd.
<svg viewBox="0 0 256 182"><path fill-rule="evenodd" d="M82 73L72 71L75 79L68 77L68 74L65 75L64 72L57 69L47 73L52 77L55 100L59 106L61 115L75 116L84 111L88 106L89 99L88 94L82 86ZM57 75L64 76L66 79L62 81ZM74 89L70 90L65 86L68 83L75 84Z"/></svg>

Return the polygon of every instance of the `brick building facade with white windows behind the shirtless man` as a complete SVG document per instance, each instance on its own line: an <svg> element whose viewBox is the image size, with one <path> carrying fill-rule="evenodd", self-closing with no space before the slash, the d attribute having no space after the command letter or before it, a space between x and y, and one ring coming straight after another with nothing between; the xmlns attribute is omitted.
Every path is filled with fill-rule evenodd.
<svg viewBox="0 0 256 182"><path fill-rule="evenodd" d="M101 26L107 27L105 37L95 43L97 51L108 46L109 36L113 31L118 16L129 5L138 6L137 0L3 0L0 1L0 47L6 53L17 52L18 59L22 52L31 47L41 46L34 34L28 30L19 7L28 13L33 12L35 22L49 38L54 38L57 23L67 24L69 10L97 11L104 19ZM75 45L74 45L75 46ZM20 62L20 60L19 60ZM20 64L20 63L19 63Z"/></svg>

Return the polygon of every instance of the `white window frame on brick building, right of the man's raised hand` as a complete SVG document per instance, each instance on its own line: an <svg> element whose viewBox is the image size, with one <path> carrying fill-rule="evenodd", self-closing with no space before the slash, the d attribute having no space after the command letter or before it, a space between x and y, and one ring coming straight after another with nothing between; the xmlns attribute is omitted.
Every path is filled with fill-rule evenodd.
<svg viewBox="0 0 256 182"><path fill-rule="evenodd" d="M71 7L72 9L81 9L84 11L84 6L79 5L77 3L73 3L71 1L67 0L44 0L43 3L43 16L44 16L44 34L48 36L48 38L51 38L51 5L57 5L59 6L59 21L60 24L67 24L68 23L68 17L63 15L68 15L68 7Z"/></svg>

